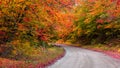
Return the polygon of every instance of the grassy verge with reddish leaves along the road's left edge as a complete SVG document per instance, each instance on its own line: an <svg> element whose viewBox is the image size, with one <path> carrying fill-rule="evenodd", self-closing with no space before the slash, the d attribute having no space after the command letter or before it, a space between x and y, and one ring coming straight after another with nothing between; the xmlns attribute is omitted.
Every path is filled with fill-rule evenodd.
<svg viewBox="0 0 120 68"><path fill-rule="evenodd" d="M44 68L64 55L64 49L61 47L40 48L40 53L34 54L35 57L25 60L13 60L0 58L0 68Z"/></svg>

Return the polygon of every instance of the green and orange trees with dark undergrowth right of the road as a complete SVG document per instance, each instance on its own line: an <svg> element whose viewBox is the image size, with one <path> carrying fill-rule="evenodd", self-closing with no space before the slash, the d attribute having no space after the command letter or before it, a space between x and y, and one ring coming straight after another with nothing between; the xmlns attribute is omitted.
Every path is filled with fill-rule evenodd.
<svg viewBox="0 0 120 68"><path fill-rule="evenodd" d="M73 39L88 43L104 43L120 37L119 0L80 1L76 7ZM79 42L81 42L79 41Z"/></svg>

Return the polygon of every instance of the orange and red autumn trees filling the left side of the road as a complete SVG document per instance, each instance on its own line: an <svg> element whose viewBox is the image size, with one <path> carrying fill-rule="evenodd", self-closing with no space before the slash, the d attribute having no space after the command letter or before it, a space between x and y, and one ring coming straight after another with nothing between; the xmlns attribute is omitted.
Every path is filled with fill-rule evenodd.
<svg viewBox="0 0 120 68"><path fill-rule="evenodd" d="M73 5L72 0L0 0L0 55L30 58L39 47L67 36L73 15L66 13Z"/></svg>

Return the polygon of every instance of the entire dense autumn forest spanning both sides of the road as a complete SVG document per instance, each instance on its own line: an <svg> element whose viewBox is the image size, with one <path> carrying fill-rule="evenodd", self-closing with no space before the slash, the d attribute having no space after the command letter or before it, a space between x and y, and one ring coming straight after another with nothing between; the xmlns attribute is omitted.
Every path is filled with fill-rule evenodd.
<svg viewBox="0 0 120 68"><path fill-rule="evenodd" d="M120 0L0 0L0 57L60 55L56 42L120 47Z"/></svg>

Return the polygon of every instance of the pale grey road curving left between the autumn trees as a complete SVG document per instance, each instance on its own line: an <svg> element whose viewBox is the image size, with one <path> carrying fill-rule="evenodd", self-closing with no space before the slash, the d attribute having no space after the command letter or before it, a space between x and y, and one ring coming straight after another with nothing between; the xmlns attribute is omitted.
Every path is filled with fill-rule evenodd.
<svg viewBox="0 0 120 68"><path fill-rule="evenodd" d="M47 68L120 68L120 60L105 54L71 46L62 47L66 50L65 56Z"/></svg>

